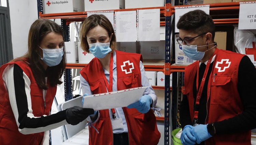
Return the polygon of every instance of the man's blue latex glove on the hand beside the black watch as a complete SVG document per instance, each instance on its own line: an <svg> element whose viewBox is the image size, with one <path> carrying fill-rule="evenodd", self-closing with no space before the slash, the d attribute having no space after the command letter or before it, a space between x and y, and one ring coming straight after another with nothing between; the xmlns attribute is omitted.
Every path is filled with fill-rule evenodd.
<svg viewBox="0 0 256 145"><path fill-rule="evenodd" d="M207 130L207 125L197 125L191 130L191 134L196 137L197 144L200 144L202 141L205 141L212 137L212 135Z"/></svg>

